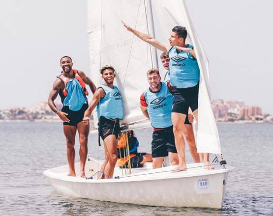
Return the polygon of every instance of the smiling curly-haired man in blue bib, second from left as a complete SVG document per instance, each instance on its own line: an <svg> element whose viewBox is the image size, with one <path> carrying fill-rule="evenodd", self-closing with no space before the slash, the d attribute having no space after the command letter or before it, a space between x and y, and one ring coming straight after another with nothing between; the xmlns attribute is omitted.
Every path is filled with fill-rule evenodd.
<svg viewBox="0 0 273 216"><path fill-rule="evenodd" d="M115 69L106 65L100 69L104 80L95 91L93 99L84 113L83 122L89 124L92 110L97 108L99 119L99 135L103 139L105 161L101 167L101 178L112 178L118 160L117 143L121 132L120 119L123 118L122 95L120 89L114 85Z"/></svg>

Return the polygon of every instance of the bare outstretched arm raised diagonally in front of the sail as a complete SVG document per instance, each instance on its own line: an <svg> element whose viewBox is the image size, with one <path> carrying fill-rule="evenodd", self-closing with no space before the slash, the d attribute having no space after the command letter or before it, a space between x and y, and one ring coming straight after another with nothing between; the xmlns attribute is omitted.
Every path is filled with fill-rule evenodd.
<svg viewBox="0 0 273 216"><path fill-rule="evenodd" d="M153 47L155 47L158 50L161 50L162 52L168 53L171 46L162 44L159 41L155 40L151 35L146 34L144 32L140 32L136 29L133 29L132 27L129 27L127 24L125 24L123 21L121 21L123 26L130 32L132 32L134 35L136 35L139 39L147 42L148 44L151 44Z"/></svg>

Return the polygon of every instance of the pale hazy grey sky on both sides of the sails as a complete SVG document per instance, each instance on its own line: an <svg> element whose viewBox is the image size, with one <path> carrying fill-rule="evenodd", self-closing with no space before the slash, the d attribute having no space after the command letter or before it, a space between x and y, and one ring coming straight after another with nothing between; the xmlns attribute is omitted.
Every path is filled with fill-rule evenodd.
<svg viewBox="0 0 273 216"><path fill-rule="evenodd" d="M273 114L273 0L187 5L210 60L212 98ZM86 0L1 0L0 109L46 101L62 55L89 74L86 25Z"/></svg>

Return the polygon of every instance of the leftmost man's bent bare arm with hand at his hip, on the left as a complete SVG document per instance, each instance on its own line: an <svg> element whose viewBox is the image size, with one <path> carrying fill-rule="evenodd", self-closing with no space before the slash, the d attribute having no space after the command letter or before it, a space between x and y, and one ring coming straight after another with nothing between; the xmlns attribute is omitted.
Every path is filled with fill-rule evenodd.
<svg viewBox="0 0 273 216"><path fill-rule="evenodd" d="M47 104L51 108L52 111L54 111L57 115L59 115L59 117L61 118L62 121L69 122L69 119L66 117L67 113L62 112L59 109L57 109L57 107L54 103L54 100L57 98L58 93L62 87L63 87L62 81L60 79L57 79L54 82L53 87L49 93Z"/></svg>

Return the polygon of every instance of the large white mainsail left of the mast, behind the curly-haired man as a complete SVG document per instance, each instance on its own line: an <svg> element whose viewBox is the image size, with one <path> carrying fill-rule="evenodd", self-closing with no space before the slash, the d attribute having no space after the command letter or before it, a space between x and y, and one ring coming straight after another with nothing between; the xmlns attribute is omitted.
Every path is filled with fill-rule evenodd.
<svg viewBox="0 0 273 216"><path fill-rule="evenodd" d="M141 121L145 117L140 110L140 95L149 87L146 72L154 64L152 48L128 32L121 20L151 32L149 5L143 0L88 0L87 4L91 79L101 85L99 68L112 65L117 72L114 84L123 97L125 115L121 122ZM96 114L93 116L96 119Z"/></svg>

